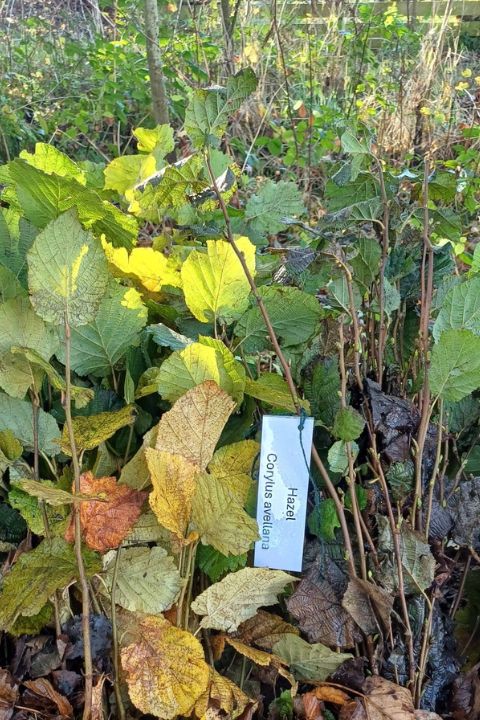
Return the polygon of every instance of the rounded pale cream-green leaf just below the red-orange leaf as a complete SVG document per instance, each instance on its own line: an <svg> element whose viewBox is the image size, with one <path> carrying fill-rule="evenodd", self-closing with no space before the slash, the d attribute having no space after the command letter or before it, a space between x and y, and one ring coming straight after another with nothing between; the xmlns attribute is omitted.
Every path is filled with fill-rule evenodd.
<svg viewBox="0 0 480 720"><path fill-rule="evenodd" d="M150 615L172 607L180 593L182 580L167 551L161 547L130 547L108 553L103 577L110 592L118 552L117 605L130 612Z"/></svg>

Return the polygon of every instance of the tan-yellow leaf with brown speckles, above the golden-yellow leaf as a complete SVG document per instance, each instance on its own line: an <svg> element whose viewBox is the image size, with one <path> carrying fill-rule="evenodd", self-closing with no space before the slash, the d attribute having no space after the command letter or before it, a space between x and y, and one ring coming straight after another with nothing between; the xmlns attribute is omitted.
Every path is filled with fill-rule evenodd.
<svg viewBox="0 0 480 720"><path fill-rule="evenodd" d="M211 380L197 385L162 415L157 450L182 455L205 470L234 407L231 397Z"/></svg>

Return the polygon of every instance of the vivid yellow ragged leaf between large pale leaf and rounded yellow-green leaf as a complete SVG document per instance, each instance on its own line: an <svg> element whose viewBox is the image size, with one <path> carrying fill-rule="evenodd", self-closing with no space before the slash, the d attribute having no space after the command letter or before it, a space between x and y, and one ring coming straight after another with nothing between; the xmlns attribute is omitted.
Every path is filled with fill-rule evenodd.
<svg viewBox="0 0 480 720"><path fill-rule="evenodd" d="M114 248L102 241L108 262L123 277L138 280L150 292L160 292L165 285L181 287L178 262L167 258L150 247L134 248L128 254L126 248Z"/></svg>

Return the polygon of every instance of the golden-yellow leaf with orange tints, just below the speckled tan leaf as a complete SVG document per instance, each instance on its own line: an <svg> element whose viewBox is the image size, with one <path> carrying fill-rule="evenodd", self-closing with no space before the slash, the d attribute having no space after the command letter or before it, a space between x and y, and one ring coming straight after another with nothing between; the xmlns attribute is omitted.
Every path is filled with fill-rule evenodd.
<svg viewBox="0 0 480 720"><path fill-rule="evenodd" d="M160 525L178 538L184 538L190 522L198 467L181 455L161 450L146 448L145 455L153 484L150 507Z"/></svg>

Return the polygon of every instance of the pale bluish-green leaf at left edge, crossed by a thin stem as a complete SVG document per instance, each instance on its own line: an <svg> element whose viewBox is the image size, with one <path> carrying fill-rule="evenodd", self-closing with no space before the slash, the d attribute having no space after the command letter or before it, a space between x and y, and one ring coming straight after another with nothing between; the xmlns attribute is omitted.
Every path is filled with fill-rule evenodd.
<svg viewBox="0 0 480 720"><path fill-rule="evenodd" d="M10 430L24 448L33 450L32 405L0 393L0 430ZM60 430L55 419L39 408L38 445L46 455L60 452Z"/></svg>

